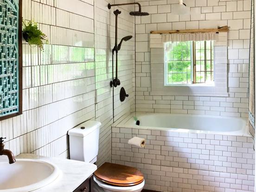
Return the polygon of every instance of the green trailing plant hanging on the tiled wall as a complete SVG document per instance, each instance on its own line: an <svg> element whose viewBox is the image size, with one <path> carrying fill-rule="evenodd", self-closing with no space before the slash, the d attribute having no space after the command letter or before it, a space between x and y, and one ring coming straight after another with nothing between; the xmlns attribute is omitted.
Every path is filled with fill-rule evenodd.
<svg viewBox="0 0 256 192"><path fill-rule="evenodd" d="M23 37L29 45L37 45L40 50L44 50L44 44L48 44L48 38L41 30L38 29L38 24L33 21L28 21L27 24L22 20Z"/></svg>

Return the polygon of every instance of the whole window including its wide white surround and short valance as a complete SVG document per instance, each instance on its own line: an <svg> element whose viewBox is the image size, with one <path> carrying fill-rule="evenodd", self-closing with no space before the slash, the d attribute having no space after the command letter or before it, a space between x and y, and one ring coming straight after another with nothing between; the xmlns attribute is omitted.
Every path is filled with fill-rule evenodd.
<svg viewBox="0 0 256 192"><path fill-rule="evenodd" d="M228 32L150 34L150 94L229 96L227 39Z"/></svg>

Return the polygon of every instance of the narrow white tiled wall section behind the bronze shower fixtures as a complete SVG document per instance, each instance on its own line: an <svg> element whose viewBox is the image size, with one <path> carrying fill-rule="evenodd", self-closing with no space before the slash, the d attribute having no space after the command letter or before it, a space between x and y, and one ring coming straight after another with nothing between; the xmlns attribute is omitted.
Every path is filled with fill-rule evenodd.
<svg viewBox="0 0 256 192"><path fill-rule="evenodd" d="M113 11L119 9L118 16L118 43L121 38L134 34L134 17L129 12L134 6L120 6L108 9L108 3L114 0L95 0L95 51L96 51L96 120L102 123L99 141L97 165L111 162L111 124L113 123L113 90L109 83L112 80L112 49L115 45L115 15ZM128 0L127 2L133 2ZM122 1L115 3L122 3ZM133 69L135 63L134 38L122 43L118 52L118 78L121 86L114 89L114 116L115 120L122 115L134 111ZM115 72L115 57L114 57ZM115 74L114 74L115 75ZM129 97L120 102L119 93L124 87Z"/></svg>

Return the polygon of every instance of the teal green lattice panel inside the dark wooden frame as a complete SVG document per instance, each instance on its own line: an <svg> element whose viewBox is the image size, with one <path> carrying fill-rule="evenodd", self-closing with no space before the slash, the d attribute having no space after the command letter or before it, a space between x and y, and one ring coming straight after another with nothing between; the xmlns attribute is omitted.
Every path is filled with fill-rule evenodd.
<svg viewBox="0 0 256 192"><path fill-rule="evenodd" d="M0 0L0 117L19 111L18 26L18 0Z"/></svg>

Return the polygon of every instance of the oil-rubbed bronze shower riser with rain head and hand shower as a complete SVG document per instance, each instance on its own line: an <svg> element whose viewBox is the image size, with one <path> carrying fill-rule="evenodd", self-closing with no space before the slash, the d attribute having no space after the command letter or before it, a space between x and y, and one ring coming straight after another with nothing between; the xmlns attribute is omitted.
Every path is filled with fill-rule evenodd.
<svg viewBox="0 0 256 192"><path fill-rule="evenodd" d="M125 5L138 5L139 6L139 11L134 11L134 12L130 12L130 15L133 16L146 16L149 15L149 13L146 12L141 12L141 4L140 3L123 3L123 4L113 4L111 5L110 3L108 4L108 8L111 9L111 6L125 6ZM118 51L120 51L121 49L121 45L123 41L128 41L130 40L133 36L129 35L126 36L124 38L122 38L121 42L117 45L117 19L118 19L118 15L121 14L121 11L119 11L118 9L116 9L114 11L115 14L115 47L112 50L112 73L114 74L114 53L115 53L115 78L113 75L113 80L110 82L110 87L117 87L118 85L121 84L120 80L118 79Z"/></svg>

